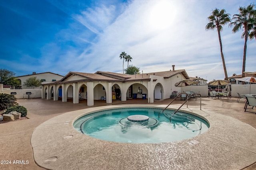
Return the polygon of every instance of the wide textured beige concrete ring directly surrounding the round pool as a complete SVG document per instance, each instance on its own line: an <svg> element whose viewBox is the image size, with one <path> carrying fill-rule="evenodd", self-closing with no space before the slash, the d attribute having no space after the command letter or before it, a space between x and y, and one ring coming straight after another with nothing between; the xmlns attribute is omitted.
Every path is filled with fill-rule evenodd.
<svg viewBox="0 0 256 170"><path fill-rule="evenodd" d="M210 128L203 134L168 143L116 143L76 131L73 122L83 113L124 107L166 105L123 104L100 106L58 115L31 135L35 162L47 169L242 169L256 160L256 129L207 109L182 107L204 117ZM176 106L168 109L177 109Z"/></svg>

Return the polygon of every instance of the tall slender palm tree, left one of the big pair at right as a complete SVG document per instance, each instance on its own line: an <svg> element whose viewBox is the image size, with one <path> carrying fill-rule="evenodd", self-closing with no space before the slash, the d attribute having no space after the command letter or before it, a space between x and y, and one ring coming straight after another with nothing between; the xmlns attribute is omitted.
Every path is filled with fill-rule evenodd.
<svg viewBox="0 0 256 170"><path fill-rule="evenodd" d="M220 41L220 54L222 58L223 68L224 68L225 80L228 80L226 64L225 64L224 55L222 52L222 42L220 38L220 31L223 30L222 25L226 25L228 22L230 22L230 14L226 14L226 11L224 9L219 10L215 8L215 10L212 10L212 14L208 16L208 20L210 22L206 25L205 27L206 30L209 30L209 29L213 30L217 28L219 41Z"/></svg>

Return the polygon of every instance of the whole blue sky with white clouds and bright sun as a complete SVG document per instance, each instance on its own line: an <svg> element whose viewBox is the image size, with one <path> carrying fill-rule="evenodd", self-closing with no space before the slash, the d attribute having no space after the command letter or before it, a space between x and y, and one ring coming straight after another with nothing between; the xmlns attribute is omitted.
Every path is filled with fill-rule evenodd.
<svg viewBox="0 0 256 170"><path fill-rule="evenodd" d="M0 0L0 68L32 72L122 72L125 51L146 72L185 69L208 82L224 79L217 30L205 30L215 8L238 14L255 0ZM242 31L221 32L228 76L242 74ZM256 71L248 40L246 71ZM124 63L127 68L127 63Z"/></svg>

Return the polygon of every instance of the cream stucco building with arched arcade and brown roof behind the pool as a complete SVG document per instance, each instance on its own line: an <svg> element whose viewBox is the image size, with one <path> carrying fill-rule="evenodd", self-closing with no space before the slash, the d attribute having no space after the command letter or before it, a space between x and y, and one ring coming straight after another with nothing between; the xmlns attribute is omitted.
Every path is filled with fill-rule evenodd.
<svg viewBox="0 0 256 170"><path fill-rule="evenodd" d="M88 106L94 105L94 100L105 99L112 103L114 89L119 88L121 100L130 98L154 99L170 98L173 91L181 91L174 84L180 80L189 79L185 70L170 70L144 74L120 74L97 71L96 73L69 72L60 81L42 83L42 98L48 100L72 100L74 104L80 99L87 100ZM207 92L207 87L206 90ZM207 96L207 94L206 94Z"/></svg>

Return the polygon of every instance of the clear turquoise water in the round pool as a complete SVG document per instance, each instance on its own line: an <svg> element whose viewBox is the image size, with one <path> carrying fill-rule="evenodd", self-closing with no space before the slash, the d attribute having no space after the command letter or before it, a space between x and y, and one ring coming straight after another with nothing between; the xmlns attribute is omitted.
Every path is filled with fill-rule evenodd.
<svg viewBox="0 0 256 170"><path fill-rule="evenodd" d="M120 143L162 143L189 139L208 130L209 124L194 115L158 108L122 108L98 111L78 118L74 128L90 137ZM148 116L148 121L134 122L130 115Z"/></svg>

